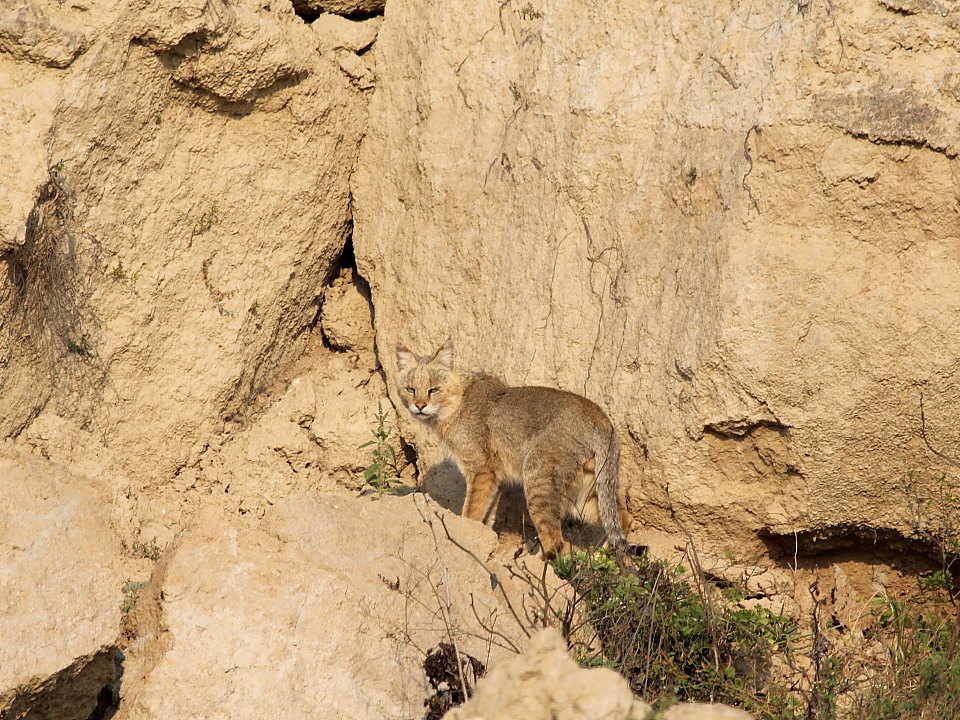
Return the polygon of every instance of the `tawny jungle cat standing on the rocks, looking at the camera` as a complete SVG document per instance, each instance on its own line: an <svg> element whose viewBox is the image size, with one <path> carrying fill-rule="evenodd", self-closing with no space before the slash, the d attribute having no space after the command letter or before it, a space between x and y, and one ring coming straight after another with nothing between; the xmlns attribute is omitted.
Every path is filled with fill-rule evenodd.
<svg viewBox="0 0 960 720"><path fill-rule="evenodd" d="M467 481L463 515L484 522L505 483L519 483L544 557L563 548L567 514L600 524L610 544L629 530L618 487L620 441L595 403L547 387L508 387L454 370L450 340L432 356L397 346L397 390L434 429Z"/></svg>

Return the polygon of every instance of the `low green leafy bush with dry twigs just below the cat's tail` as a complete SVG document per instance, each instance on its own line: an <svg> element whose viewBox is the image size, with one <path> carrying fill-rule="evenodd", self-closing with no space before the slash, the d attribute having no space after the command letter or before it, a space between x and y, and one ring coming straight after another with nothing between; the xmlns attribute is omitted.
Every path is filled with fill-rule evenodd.
<svg viewBox="0 0 960 720"><path fill-rule="evenodd" d="M578 661L616 668L654 707L726 702L764 718L794 717L796 700L768 688L772 657L792 652L797 623L743 606L682 566L609 551L578 551L555 563L583 605L595 638ZM797 716L799 717L799 716Z"/></svg>

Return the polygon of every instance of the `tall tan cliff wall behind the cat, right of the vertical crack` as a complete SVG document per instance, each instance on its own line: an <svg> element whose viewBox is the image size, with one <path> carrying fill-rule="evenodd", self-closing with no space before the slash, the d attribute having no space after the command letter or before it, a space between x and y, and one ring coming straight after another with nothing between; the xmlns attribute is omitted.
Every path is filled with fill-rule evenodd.
<svg viewBox="0 0 960 720"><path fill-rule="evenodd" d="M921 392L960 446L960 12L904 8L390 6L353 180L379 347L598 401L642 527L912 536Z"/></svg>

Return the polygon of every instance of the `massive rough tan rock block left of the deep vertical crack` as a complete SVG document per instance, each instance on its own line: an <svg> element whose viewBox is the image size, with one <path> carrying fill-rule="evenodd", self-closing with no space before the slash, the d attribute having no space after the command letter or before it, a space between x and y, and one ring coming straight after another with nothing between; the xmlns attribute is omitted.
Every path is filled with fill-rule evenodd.
<svg viewBox="0 0 960 720"><path fill-rule="evenodd" d="M300 355L366 106L318 42L284 0L0 12L0 434L55 412L155 487Z"/></svg>

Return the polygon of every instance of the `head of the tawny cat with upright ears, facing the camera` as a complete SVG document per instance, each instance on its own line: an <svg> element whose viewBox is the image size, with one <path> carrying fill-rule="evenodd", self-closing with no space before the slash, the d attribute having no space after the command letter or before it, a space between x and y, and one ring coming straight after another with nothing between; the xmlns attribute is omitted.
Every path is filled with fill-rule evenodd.
<svg viewBox="0 0 960 720"><path fill-rule="evenodd" d="M414 355L397 345L397 392L418 420L437 420L460 405L460 378L453 370L453 342L447 340L433 355Z"/></svg>

